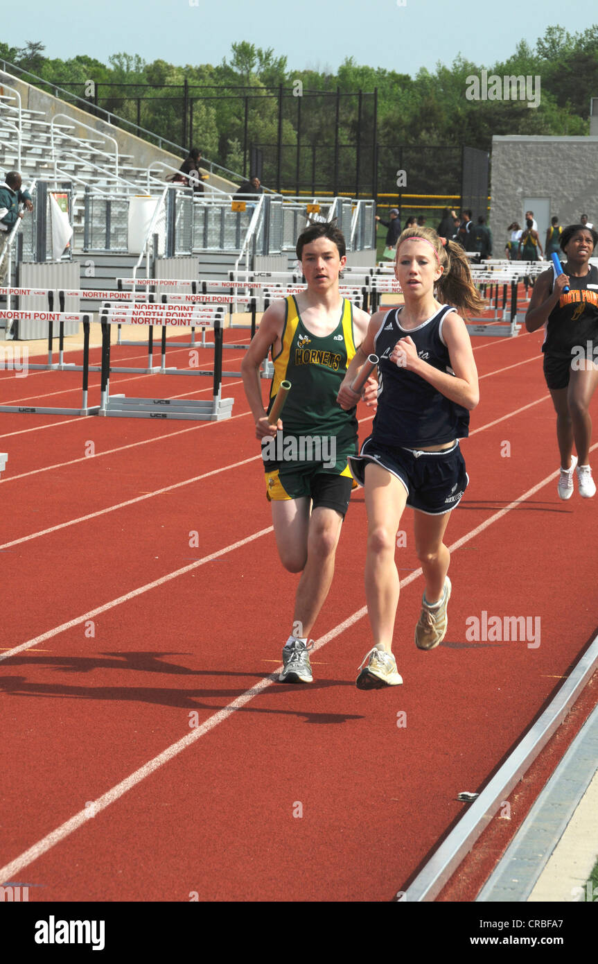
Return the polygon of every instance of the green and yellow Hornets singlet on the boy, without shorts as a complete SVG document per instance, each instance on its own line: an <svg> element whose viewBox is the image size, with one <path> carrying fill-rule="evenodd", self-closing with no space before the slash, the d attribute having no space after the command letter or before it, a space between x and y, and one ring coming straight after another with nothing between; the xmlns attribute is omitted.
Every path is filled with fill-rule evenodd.
<svg viewBox="0 0 598 964"><path fill-rule="evenodd" d="M307 331L293 295L286 303L282 347L273 358L268 411L280 383L287 379L292 388L281 415L284 436L334 436L337 450L352 454L357 438L355 409L346 412L336 401L355 354L351 302L343 299L339 323L324 337Z"/></svg>

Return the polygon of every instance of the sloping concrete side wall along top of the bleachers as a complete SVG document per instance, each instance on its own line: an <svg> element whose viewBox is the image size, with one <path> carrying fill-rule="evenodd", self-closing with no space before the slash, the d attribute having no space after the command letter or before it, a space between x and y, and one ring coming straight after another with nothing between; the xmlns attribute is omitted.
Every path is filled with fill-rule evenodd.
<svg viewBox="0 0 598 964"><path fill-rule="evenodd" d="M79 121L80 124L85 123L89 127L93 127L94 130L108 134L117 141L119 153L131 154L131 161L129 163L136 167L146 168L153 162L165 161L167 164L172 165L172 167L178 168L183 160L184 151L182 151L181 154L173 154L169 150L155 147L153 144L143 141L141 137L128 133L126 129L113 127L105 120L93 117L93 115L88 114L87 111L79 107L74 107L59 97L46 94L44 91L40 91L39 88L33 87L31 84L26 84L24 81L14 77L13 74L0 72L0 86L2 85L3 78L7 84L10 84L10 86L15 88L21 95L21 106L23 108L32 111L41 111L45 115L44 118L39 118L39 120L46 120L49 123L56 114L66 114L67 117L72 118L74 121ZM93 136L91 132L83 126L75 128L71 133L74 134L75 137ZM106 149L110 150L111 147L107 147ZM209 171L206 169L202 170L206 174L209 174ZM160 176L159 171L160 169L156 172L156 176ZM237 189L236 184L233 184L232 181L225 180L218 174L211 174L207 183L213 184L214 187L220 188L221 191L236 191Z"/></svg>

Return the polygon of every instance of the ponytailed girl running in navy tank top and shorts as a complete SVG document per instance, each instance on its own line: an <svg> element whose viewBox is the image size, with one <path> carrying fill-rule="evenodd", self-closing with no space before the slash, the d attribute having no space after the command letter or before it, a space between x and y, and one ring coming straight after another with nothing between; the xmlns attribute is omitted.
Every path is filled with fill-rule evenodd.
<svg viewBox="0 0 598 964"><path fill-rule="evenodd" d="M397 242L395 274L404 305L373 316L338 395L343 408L355 404L351 383L367 356L376 353L377 415L372 435L350 459L353 475L365 486L365 586L375 644L360 667L360 689L403 683L392 639L400 587L395 545L405 505L414 510L415 546L426 580L415 643L431 650L446 634L451 581L443 537L468 482L458 439L468 435L469 412L479 401L471 342L455 308L480 310L483 301L460 245L430 228L408 228Z"/></svg>

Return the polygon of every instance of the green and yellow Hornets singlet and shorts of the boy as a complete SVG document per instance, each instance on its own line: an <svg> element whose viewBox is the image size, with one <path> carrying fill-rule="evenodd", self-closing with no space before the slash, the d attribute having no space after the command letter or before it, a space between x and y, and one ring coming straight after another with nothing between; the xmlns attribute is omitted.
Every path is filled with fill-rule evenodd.
<svg viewBox="0 0 598 964"><path fill-rule="evenodd" d="M281 382L291 382L282 411L283 428L262 440L269 499L308 496L314 508L345 515L351 496L348 457L357 450L355 409L343 410L336 396L355 354L351 302L343 299L338 325L329 335L312 335L297 301L286 299L282 346L273 358L273 406Z"/></svg>

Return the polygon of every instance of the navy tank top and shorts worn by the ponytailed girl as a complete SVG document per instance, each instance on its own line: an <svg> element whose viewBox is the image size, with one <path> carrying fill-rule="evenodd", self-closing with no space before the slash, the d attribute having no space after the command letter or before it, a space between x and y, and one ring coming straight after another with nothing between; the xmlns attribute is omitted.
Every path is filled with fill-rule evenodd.
<svg viewBox="0 0 598 964"><path fill-rule="evenodd" d="M389 361L397 342L409 335L418 356L438 371L455 374L442 323L455 311L438 308L417 328L403 328L401 308L388 311L374 339L379 358L377 413L372 435L350 459L351 471L363 485L368 462L395 475L407 493L407 505L429 516L450 512L460 501L469 481L458 439L469 435L469 412L451 401L426 379ZM443 445L427 452L422 446Z"/></svg>

